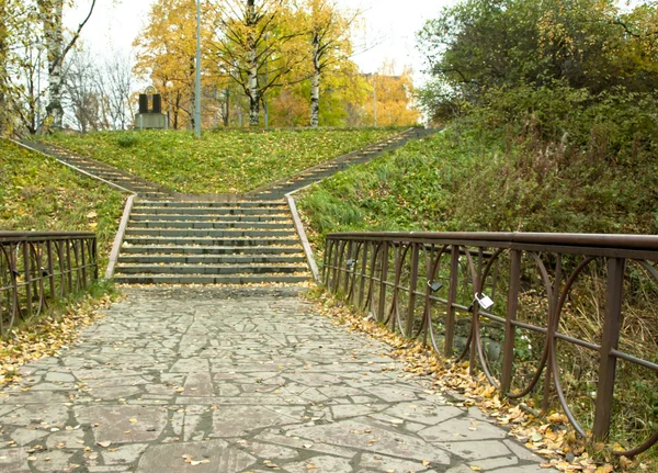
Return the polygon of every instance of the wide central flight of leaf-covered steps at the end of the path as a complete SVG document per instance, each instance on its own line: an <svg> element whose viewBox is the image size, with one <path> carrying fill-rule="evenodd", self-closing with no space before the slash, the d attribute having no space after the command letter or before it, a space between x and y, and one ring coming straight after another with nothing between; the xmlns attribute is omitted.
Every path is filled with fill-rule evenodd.
<svg viewBox="0 0 658 473"><path fill-rule="evenodd" d="M309 279L283 201L136 202L115 269L115 281L124 284Z"/></svg>

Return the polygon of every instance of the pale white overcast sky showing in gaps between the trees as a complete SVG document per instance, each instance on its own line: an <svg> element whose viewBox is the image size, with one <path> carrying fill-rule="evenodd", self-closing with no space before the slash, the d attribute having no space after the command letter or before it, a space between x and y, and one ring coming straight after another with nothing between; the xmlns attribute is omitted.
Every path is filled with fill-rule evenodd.
<svg viewBox="0 0 658 473"><path fill-rule="evenodd" d="M92 18L82 31L82 41L97 57L126 54L133 40L146 24L155 0L98 0ZM358 44L368 49L353 57L362 72L373 72L384 61L393 60L397 72L404 66L413 70L417 85L422 83L422 55L416 48L416 32L424 22L438 18L444 5L456 0L337 0L344 9L360 10L365 21L364 36ZM66 13L69 27L75 26L89 11L90 0L78 0Z"/></svg>

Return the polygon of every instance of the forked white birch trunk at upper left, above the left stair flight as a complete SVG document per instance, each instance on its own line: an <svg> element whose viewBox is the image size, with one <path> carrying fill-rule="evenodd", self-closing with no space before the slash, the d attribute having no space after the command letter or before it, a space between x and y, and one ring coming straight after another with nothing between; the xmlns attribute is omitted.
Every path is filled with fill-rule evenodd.
<svg viewBox="0 0 658 473"><path fill-rule="evenodd" d="M48 56L49 102L46 111L52 119L52 127L57 131L61 129L64 121L64 108L61 106L64 61L91 18L95 0L91 0L87 16L78 25L68 42L65 42L64 37L64 0L37 0L37 5Z"/></svg>

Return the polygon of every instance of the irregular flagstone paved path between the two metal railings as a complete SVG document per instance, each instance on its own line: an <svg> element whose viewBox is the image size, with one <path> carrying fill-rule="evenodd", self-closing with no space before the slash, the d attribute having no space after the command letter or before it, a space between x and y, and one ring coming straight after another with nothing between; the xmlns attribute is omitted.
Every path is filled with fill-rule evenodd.
<svg viewBox="0 0 658 473"><path fill-rule="evenodd" d="M546 471L291 291L131 289L4 390L0 471Z"/></svg>

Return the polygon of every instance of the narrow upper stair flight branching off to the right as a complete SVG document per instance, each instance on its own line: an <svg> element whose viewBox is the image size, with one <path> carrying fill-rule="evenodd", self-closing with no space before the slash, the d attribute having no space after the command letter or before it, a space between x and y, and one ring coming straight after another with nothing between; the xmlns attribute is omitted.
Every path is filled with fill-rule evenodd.
<svg viewBox="0 0 658 473"><path fill-rule="evenodd" d="M272 184L256 189L246 194L247 199L283 199L290 192L305 188L306 185L319 182L322 179L345 170L351 166L367 162L386 151L390 151L405 146L411 139L421 139L430 136L439 129L434 128L411 128L399 135L396 135L384 142L376 143L359 151L340 156L330 161L306 169L305 171Z"/></svg>

